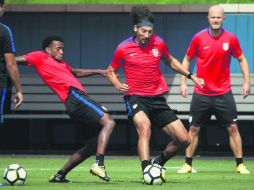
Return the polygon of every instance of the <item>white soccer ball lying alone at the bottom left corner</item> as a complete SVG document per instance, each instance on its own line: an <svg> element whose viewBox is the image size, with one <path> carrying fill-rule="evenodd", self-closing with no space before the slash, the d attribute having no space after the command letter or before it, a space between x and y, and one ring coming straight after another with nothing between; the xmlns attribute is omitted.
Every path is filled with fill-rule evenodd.
<svg viewBox="0 0 254 190"><path fill-rule="evenodd" d="M23 185L26 177L25 168L19 164L11 164L4 170L4 180L10 185Z"/></svg>

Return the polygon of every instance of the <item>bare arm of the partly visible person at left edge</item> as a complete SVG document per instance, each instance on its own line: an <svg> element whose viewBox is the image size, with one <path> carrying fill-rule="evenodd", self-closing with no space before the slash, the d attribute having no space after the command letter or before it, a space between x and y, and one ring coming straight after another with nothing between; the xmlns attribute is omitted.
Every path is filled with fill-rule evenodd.
<svg viewBox="0 0 254 190"><path fill-rule="evenodd" d="M6 67L8 73L12 79L12 82L16 88L16 95L14 97L15 108L18 108L24 101L23 90L20 82L20 75L18 66L13 53L5 53L4 58L6 61Z"/></svg>

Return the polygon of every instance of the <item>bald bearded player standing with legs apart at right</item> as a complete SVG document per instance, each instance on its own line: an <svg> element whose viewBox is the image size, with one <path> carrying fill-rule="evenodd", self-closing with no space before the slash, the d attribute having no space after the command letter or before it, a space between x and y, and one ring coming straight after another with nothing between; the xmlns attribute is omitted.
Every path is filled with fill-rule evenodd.
<svg viewBox="0 0 254 190"><path fill-rule="evenodd" d="M186 149L186 162L178 173L193 172L192 160L198 145L200 127L215 115L229 133L230 147L236 160L236 172L249 174L243 165L242 140L237 127L237 110L230 86L230 59L235 57L243 73L243 98L250 93L250 76L248 62L234 34L222 28L224 22L222 7L211 6L208 12L209 27L197 33L183 59L183 66L189 69L191 60L196 55L197 76L202 77L206 85L194 87L190 106L191 144ZM186 78L181 78L181 94L187 97Z"/></svg>

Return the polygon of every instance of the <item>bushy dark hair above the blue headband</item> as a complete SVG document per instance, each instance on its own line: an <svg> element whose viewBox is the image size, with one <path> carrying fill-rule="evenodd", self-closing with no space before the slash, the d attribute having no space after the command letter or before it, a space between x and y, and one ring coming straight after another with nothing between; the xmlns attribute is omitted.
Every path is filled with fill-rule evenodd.
<svg viewBox="0 0 254 190"><path fill-rule="evenodd" d="M138 23L141 23L142 21L145 22L151 22L154 24L154 16L146 6L134 6L131 9L131 17L133 25L137 25Z"/></svg>

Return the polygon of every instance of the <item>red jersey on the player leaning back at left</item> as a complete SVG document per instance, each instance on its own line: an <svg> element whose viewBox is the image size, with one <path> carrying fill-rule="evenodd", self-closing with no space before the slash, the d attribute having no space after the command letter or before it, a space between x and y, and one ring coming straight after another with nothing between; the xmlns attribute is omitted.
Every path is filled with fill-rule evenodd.
<svg viewBox="0 0 254 190"><path fill-rule="evenodd" d="M58 95L63 103L66 101L70 87L86 92L79 80L71 73L72 67L65 61L57 62L42 51L31 52L24 57L28 66L35 68L44 83Z"/></svg>

